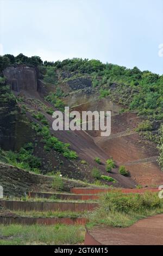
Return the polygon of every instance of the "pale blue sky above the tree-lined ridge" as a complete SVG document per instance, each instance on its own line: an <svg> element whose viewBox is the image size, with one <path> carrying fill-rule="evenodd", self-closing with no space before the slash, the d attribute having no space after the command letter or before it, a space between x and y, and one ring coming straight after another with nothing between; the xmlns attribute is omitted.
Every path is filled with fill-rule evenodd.
<svg viewBox="0 0 163 256"><path fill-rule="evenodd" d="M163 0L0 0L0 54L163 74ZM163 52L163 51L162 51Z"/></svg>

